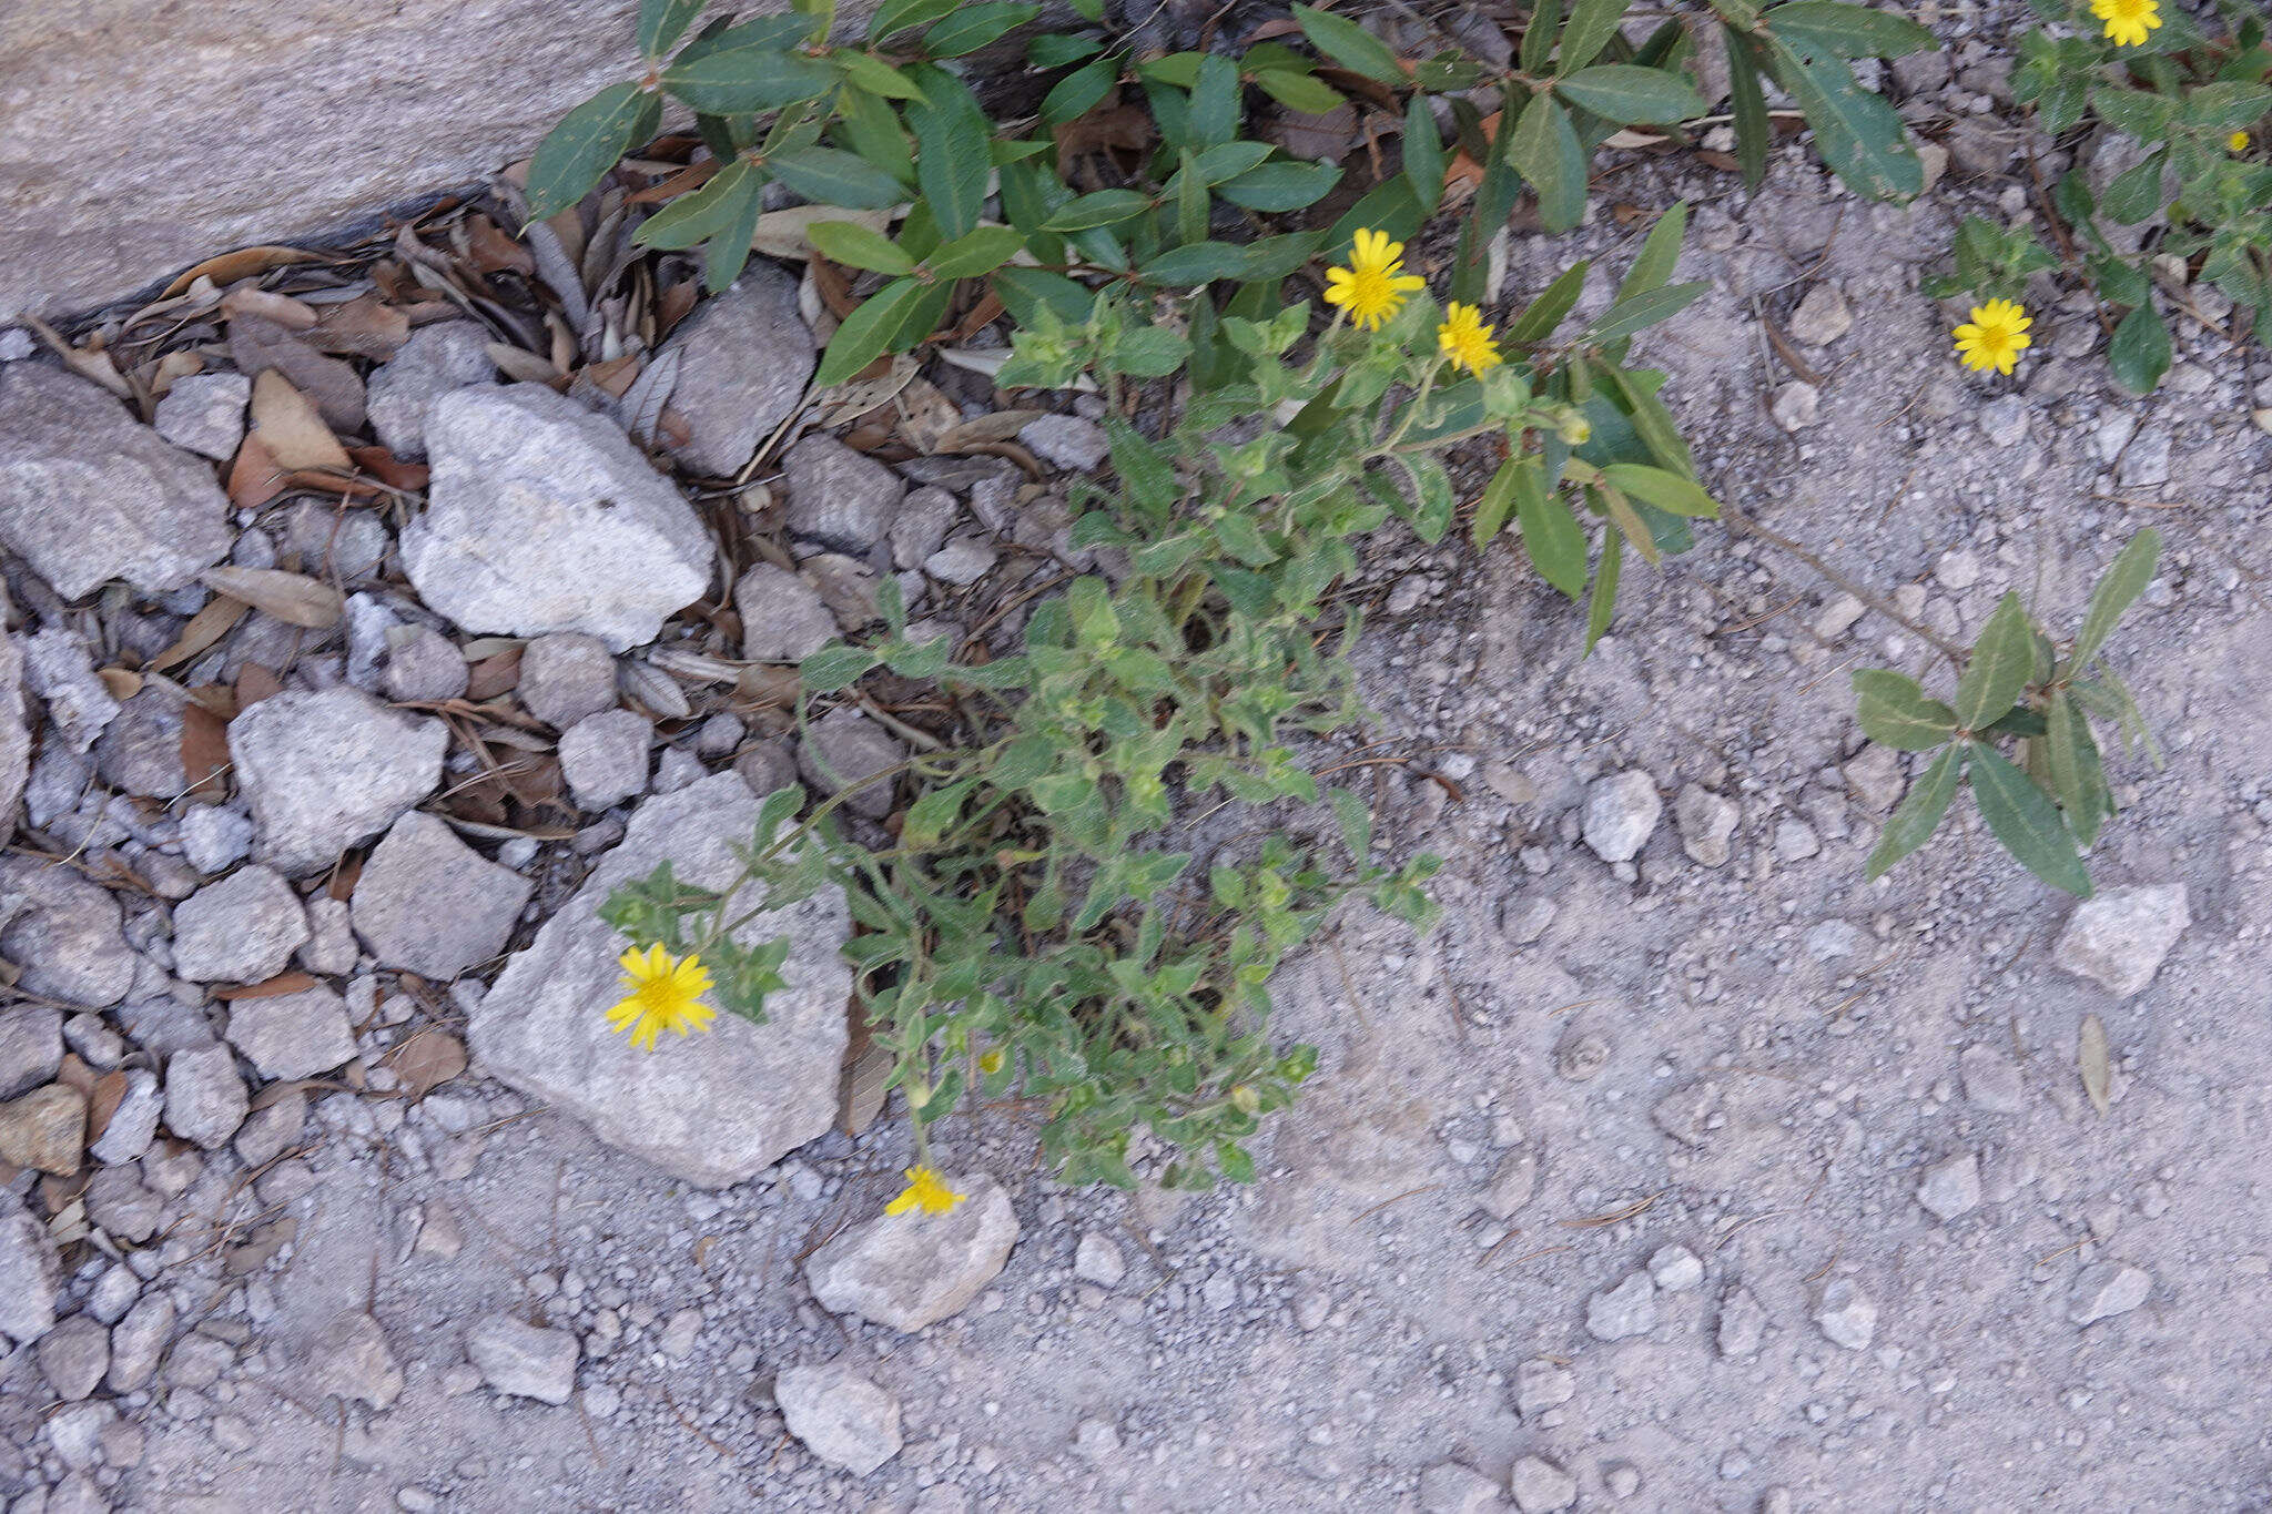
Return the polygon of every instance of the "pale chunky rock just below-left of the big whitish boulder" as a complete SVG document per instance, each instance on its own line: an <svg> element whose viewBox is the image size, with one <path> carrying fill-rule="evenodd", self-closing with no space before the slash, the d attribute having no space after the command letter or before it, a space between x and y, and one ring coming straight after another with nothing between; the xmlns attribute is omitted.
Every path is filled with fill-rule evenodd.
<svg viewBox="0 0 2272 1514"><path fill-rule="evenodd" d="M236 783L259 826L259 856L289 876L341 851L434 792L448 729L352 688L289 690L229 722Z"/></svg>

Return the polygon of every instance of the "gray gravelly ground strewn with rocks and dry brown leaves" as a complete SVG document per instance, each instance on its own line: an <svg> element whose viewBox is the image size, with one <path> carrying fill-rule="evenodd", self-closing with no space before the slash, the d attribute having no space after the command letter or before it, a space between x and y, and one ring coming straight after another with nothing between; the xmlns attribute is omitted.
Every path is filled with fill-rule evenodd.
<svg viewBox="0 0 2272 1514"><path fill-rule="evenodd" d="M970 631L1072 558L1093 399L936 361L802 406L793 263L688 313L477 218L209 270L80 375L0 334L9 1514L2263 1507L2272 388L2181 288L2156 399L2079 304L1954 368L1918 277L2049 145L1952 36L1890 70L1915 209L1797 152L1618 195L1697 204L1713 293L1647 354L1706 479L1865 597L2058 624L2163 529L2115 663L2167 763L2102 897L1970 817L1861 881L1906 765L1845 674L1933 654L1763 538L1634 574L1588 661L1511 542L1384 538L1350 754L1445 922L1286 972L1320 1076L1197 1198L986 1115L941 1128L970 1203L879 1217L827 897L754 924L770 1026L600 1017L613 883L897 758L882 708L791 740L779 663L884 574ZM1515 238L1509 300L1629 245Z"/></svg>

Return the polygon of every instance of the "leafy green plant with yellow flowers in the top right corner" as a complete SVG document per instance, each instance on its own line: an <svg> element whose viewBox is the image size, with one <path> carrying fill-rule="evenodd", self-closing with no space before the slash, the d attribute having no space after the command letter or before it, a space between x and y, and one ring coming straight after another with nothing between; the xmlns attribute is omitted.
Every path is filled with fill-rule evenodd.
<svg viewBox="0 0 2272 1514"><path fill-rule="evenodd" d="M1956 268L1927 286L1936 297L1972 293L2018 300L2036 272L2068 270L2099 300L2113 338L2106 361L2131 393L2152 393L2170 372L2170 327L2154 306L2154 256L2177 256L2215 286L2272 343L2272 43L2258 0L2217 0L2222 30L2163 7L2142 45L2099 34L2088 0L2029 0L2043 27L2020 39L2013 98L2038 125L2077 145L2077 168L2052 186L2063 222L2056 247L2029 227L1999 229L1968 218ZM2131 143L2129 168L2093 193L2086 159L2093 132ZM2106 227L2165 220L2140 252ZM2131 241L2131 238L2124 238Z"/></svg>

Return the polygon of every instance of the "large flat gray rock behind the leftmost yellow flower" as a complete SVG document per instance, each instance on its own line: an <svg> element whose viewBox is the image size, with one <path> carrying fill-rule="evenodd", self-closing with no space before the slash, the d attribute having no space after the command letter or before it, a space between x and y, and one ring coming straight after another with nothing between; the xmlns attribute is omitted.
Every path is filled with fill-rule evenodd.
<svg viewBox="0 0 2272 1514"><path fill-rule="evenodd" d="M688 1040L634 1051L607 1026L620 996L625 940L598 919L620 883L668 858L682 883L727 888L734 847L757 824L757 797L716 774L632 813L623 844L600 858L584 888L513 953L473 1010L470 1046L482 1071L586 1121L600 1139L704 1187L741 1183L822 1135L836 1119L852 974L838 949L850 935L843 892L825 888L736 931L745 944L788 935L788 987L766 1001L766 1024L720 1015ZM736 908L754 903L750 892Z"/></svg>

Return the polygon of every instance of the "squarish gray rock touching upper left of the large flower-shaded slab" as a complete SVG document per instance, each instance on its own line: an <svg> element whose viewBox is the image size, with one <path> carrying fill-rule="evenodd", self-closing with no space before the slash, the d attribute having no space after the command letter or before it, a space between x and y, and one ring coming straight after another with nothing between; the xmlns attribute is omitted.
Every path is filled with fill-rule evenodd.
<svg viewBox="0 0 2272 1514"><path fill-rule="evenodd" d="M364 863L354 931L379 962L448 983L504 951L532 888L448 824L411 810Z"/></svg>

